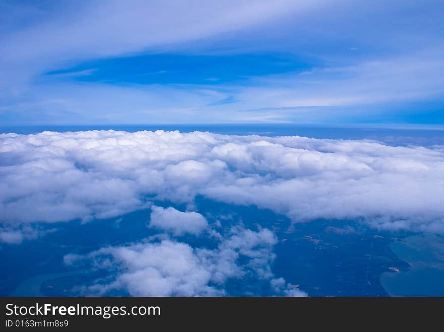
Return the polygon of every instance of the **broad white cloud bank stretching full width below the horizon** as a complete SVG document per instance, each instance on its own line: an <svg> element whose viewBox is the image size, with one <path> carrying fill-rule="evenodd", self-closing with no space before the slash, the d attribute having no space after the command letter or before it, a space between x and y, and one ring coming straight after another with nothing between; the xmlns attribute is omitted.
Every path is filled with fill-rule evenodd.
<svg viewBox="0 0 444 332"><path fill-rule="evenodd" d="M349 218L383 229L444 232L443 146L45 131L0 135L0 163L4 224L106 218L148 207L146 197L192 204L201 194L295 222Z"/></svg>

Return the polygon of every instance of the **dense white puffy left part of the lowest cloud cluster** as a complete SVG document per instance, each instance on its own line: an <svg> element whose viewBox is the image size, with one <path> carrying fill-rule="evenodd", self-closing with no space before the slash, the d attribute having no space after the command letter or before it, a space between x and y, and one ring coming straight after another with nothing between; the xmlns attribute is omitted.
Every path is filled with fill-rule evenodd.
<svg viewBox="0 0 444 332"><path fill-rule="evenodd" d="M106 294L125 289L132 296L219 295L221 291L208 286L209 267L203 265L194 249L186 243L164 240L160 243L129 247L110 247L93 252L94 259L110 256L110 264L121 271L110 284L89 287L92 293ZM100 263L100 267L105 267Z"/></svg>

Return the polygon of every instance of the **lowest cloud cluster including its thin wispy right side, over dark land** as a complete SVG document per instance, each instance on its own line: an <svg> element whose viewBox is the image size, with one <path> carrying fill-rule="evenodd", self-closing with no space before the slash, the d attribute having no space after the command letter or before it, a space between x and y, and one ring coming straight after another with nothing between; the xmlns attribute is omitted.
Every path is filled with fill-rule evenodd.
<svg viewBox="0 0 444 332"><path fill-rule="evenodd" d="M215 249L193 248L171 239L105 247L86 256L67 255L65 262L90 260L96 269L109 271L110 278L83 287L85 295L106 295L125 290L132 296L230 295L224 286L230 279L254 278L272 281L270 264L277 242L268 229L257 232L233 227ZM285 280L271 288L286 295ZM304 295L300 291L300 295Z"/></svg>

